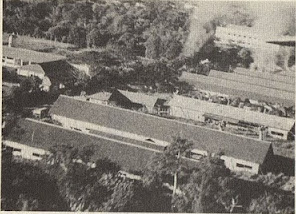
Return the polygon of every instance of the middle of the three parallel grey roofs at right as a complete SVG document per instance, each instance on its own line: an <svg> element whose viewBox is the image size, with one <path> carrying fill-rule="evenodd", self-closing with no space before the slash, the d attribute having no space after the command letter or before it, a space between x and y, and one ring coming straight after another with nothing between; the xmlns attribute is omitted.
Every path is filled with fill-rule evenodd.
<svg viewBox="0 0 296 214"><path fill-rule="evenodd" d="M226 73L226 72L221 72L216 70L211 70L209 76L219 78L219 79L233 80L235 82L247 83L250 85L258 85L266 88L273 88L281 91L290 91L295 93L295 85L293 84L278 82L278 81L269 80L269 79L262 79L255 76L243 76L237 73Z"/></svg>

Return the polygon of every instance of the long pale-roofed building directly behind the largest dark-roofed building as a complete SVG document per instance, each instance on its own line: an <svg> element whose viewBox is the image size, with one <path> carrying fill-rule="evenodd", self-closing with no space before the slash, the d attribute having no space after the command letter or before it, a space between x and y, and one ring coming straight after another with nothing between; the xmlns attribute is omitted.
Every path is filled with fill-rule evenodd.
<svg viewBox="0 0 296 214"><path fill-rule="evenodd" d="M292 137L295 127L295 121L291 118L278 117L179 95L174 95L168 105L170 106L171 116L201 122L205 121L205 118L214 118L234 124L247 123L254 126L265 126L268 127L270 136L283 140Z"/></svg>

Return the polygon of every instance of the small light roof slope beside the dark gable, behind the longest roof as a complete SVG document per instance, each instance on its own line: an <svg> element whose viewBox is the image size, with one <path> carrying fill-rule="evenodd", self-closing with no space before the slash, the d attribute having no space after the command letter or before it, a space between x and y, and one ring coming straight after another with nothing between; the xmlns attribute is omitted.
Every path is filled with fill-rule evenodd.
<svg viewBox="0 0 296 214"><path fill-rule="evenodd" d="M147 95L144 93L118 90L133 103L144 104L147 107L153 107L158 99L157 96Z"/></svg>

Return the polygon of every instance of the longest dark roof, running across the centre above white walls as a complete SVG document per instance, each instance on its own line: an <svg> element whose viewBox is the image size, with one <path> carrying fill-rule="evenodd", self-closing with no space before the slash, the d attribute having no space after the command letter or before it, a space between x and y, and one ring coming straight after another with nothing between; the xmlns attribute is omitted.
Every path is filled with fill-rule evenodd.
<svg viewBox="0 0 296 214"><path fill-rule="evenodd" d="M61 95L50 110L51 114L90 122L125 132L171 142L181 135L192 141L194 148L246 161L263 163L270 143L227 134L148 114L107 105L79 101Z"/></svg>

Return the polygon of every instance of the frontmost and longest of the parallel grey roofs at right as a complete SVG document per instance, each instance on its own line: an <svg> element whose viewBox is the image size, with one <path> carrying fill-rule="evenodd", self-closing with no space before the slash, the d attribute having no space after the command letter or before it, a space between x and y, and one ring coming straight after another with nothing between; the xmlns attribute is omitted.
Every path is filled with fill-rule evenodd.
<svg viewBox="0 0 296 214"><path fill-rule="evenodd" d="M219 79L215 77L202 76L183 72L180 80L186 81L196 88L229 94L253 100L261 100L266 102L279 102L284 105L292 106L295 103L295 93L280 91L277 89L266 88L262 86L250 85L231 80Z"/></svg>

